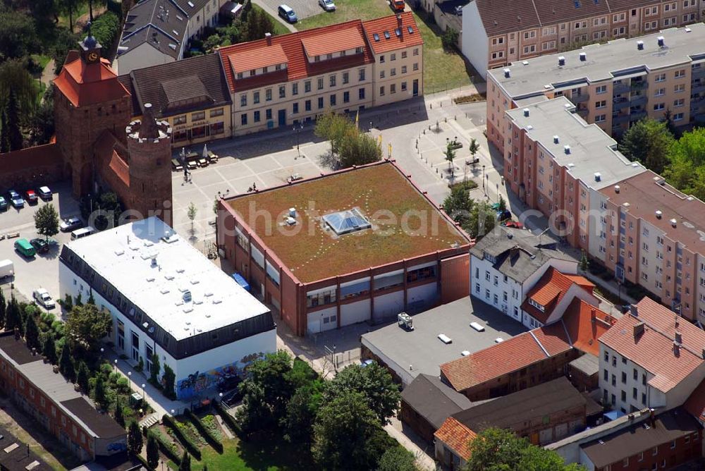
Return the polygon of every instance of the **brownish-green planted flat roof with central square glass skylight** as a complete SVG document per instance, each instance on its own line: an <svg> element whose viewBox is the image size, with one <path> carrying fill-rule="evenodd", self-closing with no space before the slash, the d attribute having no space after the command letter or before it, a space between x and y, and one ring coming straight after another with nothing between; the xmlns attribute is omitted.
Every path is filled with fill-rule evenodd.
<svg viewBox="0 0 705 471"><path fill-rule="evenodd" d="M254 232L266 251L302 283L436 252L467 252L470 245L465 233L388 161L227 201L245 231ZM309 209L311 205L314 210ZM285 220L292 207L297 224L288 226ZM271 214L274 230L266 218L251 219L253 211ZM420 228L415 222L419 219L410 217L405 225L405 214L420 214L429 226L436 221L436 235L431 236L431 228L428 233L414 232ZM333 228L343 231L342 235Z"/></svg>

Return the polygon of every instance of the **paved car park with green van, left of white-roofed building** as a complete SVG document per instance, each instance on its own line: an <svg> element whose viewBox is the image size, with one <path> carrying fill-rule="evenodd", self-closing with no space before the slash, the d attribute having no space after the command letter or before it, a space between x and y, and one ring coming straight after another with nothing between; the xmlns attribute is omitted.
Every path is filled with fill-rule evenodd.
<svg viewBox="0 0 705 471"><path fill-rule="evenodd" d="M25 203L22 209L9 207L6 211L0 212L0 234L19 233L19 238L27 240L38 237L34 214L44 204L54 204L56 212L62 218L80 214L78 202L71 195L71 184L68 181L51 185L50 188L54 192L51 202L39 200L34 206ZM59 253L61 253L61 245L71 240L71 234L60 232L52 238L59 244L51 246L49 252L37 254L36 257L29 259L14 250L14 243L18 238L0 240L0 259L11 259L15 265L14 280L8 279L4 283L13 282L15 289L27 299L31 299L32 291L40 287L47 289L55 299L60 296ZM58 312L58 309L54 311Z"/></svg>

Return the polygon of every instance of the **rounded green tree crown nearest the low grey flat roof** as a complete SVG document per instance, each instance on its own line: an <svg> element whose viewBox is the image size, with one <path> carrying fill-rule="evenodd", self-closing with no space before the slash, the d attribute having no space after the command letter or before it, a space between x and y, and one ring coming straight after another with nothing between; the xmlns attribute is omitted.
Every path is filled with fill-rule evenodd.
<svg viewBox="0 0 705 471"><path fill-rule="evenodd" d="M357 391L367 401L367 405L380 424L388 423L389 417L399 405L399 386L391 374L376 362L367 367L350 365L342 369L326 385L325 402L342 396L345 391Z"/></svg>

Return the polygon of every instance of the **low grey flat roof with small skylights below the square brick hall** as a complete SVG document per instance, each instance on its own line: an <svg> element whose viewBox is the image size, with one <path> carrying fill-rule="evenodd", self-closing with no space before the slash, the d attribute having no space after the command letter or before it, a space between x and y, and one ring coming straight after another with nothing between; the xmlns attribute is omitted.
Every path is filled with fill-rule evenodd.
<svg viewBox="0 0 705 471"><path fill-rule="evenodd" d="M507 340L527 331L494 307L474 298L462 298L412 316L414 330L405 331L396 322L376 331L362 334L362 343L372 345L391 362L417 377L421 373L439 377L440 365L457 360L462 351L477 352L494 345L498 337ZM470 322L484 326L484 332L470 327ZM439 334L453 339L446 345Z"/></svg>

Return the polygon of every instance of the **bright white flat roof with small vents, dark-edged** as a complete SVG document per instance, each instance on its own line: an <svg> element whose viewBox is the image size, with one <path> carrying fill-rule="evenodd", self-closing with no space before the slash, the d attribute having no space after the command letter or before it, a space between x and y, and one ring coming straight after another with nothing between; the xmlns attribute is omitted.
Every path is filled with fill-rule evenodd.
<svg viewBox="0 0 705 471"><path fill-rule="evenodd" d="M65 249L177 341L269 312L156 217L74 240Z"/></svg>

